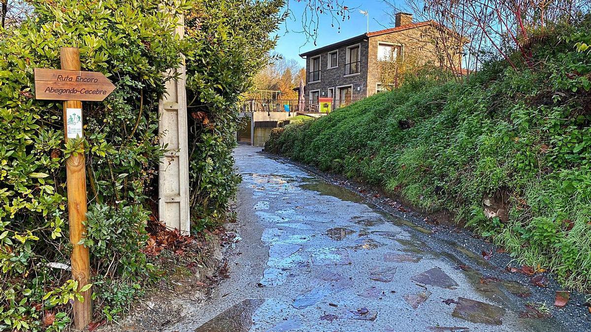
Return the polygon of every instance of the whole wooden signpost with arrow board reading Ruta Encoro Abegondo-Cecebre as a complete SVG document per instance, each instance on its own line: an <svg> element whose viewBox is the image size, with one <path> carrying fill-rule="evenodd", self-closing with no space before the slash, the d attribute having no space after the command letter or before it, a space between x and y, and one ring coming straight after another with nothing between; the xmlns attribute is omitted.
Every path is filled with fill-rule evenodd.
<svg viewBox="0 0 591 332"><path fill-rule="evenodd" d="M68 139L83 138L82 100L105 99L115 86L102 73L80 71L80 50L61 48L61 70L36 68L35 99L64 100L64 134ZM66 160L70 242L72 243L72 277L78 289L89 284L88 248L79 245L86 232L86 171L84 153L72 154ZM74 324L84 330L92 321L90 289L83 292L83 302L74 300Z"/></svg>

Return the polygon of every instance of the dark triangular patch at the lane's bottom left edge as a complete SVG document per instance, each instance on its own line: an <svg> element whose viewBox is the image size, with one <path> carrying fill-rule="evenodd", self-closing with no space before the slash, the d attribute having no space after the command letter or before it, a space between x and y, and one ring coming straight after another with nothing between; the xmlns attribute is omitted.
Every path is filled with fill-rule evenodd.
<svg viewBox="0 0 591 332"><path fill-rule="evenodd" d="M246 299L196 328L195 332L246 332L252 327L252 314L265 300Z"/></svg>

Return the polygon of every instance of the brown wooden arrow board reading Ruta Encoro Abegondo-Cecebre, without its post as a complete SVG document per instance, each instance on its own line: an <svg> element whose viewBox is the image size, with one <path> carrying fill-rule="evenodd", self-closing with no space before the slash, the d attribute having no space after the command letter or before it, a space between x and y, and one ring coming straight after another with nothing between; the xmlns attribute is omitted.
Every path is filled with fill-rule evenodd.
<svg viewBox="0 0 591 332"><path fill-rule="evenodd" d="M97 71L35 68L35 99L100 102L115 86Z"/></svg>

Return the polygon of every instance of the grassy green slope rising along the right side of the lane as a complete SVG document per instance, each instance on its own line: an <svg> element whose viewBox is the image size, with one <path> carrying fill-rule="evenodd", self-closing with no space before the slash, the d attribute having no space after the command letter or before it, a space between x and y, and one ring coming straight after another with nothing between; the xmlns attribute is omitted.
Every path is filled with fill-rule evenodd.
<svg viewBox="0 0 591 332"><path fill-rule="evenodd" d="M456 212L512 255L591 285L589 54L548 38L542 63L487 64L469 83L420 80L275 129L267 149ZM411 123L411 128L403 129ZM483 197L505 196L508 220ZM570 227L572 227L570 229Z"/></svg>

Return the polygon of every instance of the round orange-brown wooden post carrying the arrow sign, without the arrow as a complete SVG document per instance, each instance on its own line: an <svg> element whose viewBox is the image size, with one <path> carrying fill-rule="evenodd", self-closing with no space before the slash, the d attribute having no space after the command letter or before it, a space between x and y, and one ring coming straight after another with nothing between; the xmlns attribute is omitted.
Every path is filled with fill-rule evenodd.
<svg viewBox="0 0 591 332"><path fill-rule="evenodd" d="M80 50L76 47L61 48L61 69L80 70ZM73 112L76 111L76 112ZM64 101L64 134L66 142L74 128L68 128L68 116L80 115L80 138L82 138L82 102L80 100ZM75 137L75 136L74 136ZM72 136L70 136L72 138ZM78 282L78 289L89 284L90 259L88 248L79 245L83 233L82 224L86 221L86 171L84 153L72 154L66 160L68 213L70 223L70 242L72 243L72 277ZM82 293L84 302L74 300L74 324L77 330L84 330L92 321L92 299L90 289Z"/></svg>

